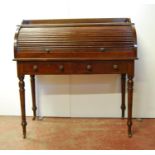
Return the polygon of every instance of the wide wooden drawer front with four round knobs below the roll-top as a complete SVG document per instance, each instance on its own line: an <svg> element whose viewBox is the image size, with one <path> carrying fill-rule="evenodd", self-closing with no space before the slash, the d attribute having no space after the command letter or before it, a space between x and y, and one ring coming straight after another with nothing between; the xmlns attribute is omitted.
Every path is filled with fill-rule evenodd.
<svg viewBox="0 0 155 155"><path fill-rule="evenodd" d="M18 62L18 74L119 74L128 61Z"/></svg>

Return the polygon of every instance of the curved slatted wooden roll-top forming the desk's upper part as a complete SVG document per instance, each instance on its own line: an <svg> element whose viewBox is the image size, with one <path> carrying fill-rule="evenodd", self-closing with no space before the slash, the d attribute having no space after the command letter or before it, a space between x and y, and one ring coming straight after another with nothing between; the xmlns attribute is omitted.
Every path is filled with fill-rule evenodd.
<svg viewBox="0 0 155 155"><path fill-rule="evenodd" d="M84 58L108 59L115 52L115 59L124 59L127 52L134 59L135 37L134 25L128 18L23 21L15 57L24 58L26 53L28 58L75 59L82 54Z"/></svg>

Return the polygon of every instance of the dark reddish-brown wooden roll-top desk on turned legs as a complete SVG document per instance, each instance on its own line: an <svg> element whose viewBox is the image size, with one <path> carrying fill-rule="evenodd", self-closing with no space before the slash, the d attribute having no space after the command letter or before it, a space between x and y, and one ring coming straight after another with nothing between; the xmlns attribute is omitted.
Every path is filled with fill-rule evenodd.
<svg viewBox="0 0 155 155"><path fill-rule="evenodd" d="M132 136L136 58L136 32L129 18L24 20L18 26L14 42L23 137L26 137L27 125L24 76L30 75L35 120L35 75L47 74L121 74L122 118L127 76L127 126L128 135Z"/></svg>

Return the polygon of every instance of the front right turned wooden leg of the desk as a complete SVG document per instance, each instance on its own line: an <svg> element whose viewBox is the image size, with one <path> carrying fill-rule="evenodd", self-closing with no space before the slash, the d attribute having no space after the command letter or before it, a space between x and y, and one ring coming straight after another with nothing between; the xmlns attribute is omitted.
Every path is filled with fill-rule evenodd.
<svg viewBox="0 0 155 155"><path fill-rule="evenodd" d="M132 136L132 100L133 100L133 76L128 75L128 136Z"/></svg>

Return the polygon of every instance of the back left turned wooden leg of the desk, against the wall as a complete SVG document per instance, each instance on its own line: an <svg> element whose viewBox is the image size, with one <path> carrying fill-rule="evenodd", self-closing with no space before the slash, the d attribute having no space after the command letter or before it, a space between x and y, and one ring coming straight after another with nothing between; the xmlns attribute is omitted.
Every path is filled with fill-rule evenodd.
<svg viewBox="0 0 155 155"><path fill-rule="evenodd" d="M36 95L35 95L35 76L34 75L30 75L30 79L31 79L31 92L32 92L33 120L35 120L36 119L36 110L37 110Z"/></svg>

